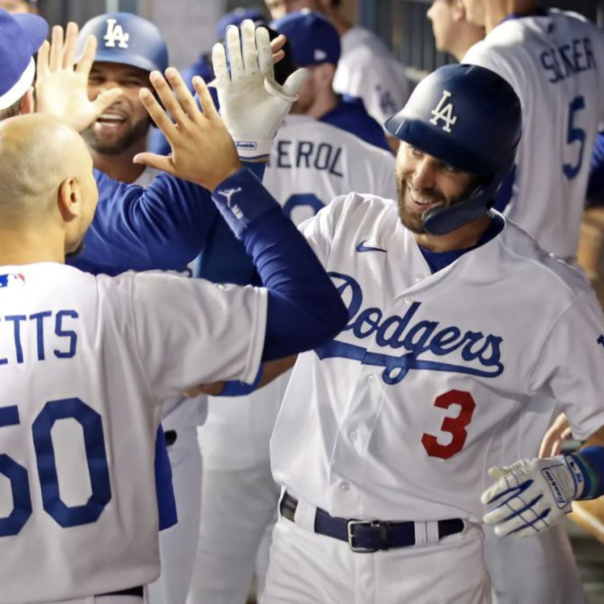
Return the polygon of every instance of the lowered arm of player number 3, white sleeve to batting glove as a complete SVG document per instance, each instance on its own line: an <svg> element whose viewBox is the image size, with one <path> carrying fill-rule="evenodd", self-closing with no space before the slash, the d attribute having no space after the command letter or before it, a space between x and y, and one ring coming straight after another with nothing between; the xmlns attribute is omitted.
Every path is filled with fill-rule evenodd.
<svg viewBox="0 0 604 604"><path fill-rule="evenodd" d="M573 501L604 495L604 321L591 291L580 294L550 330L529 380L530 391L546 388L584 441L570 455L519 460L494 467L495 484L483 492L490 506L484 522L497 535L527 536L547 530ZM600 333L599 336L594 334ZM573 353L567 351L572 347Z"/></svg>

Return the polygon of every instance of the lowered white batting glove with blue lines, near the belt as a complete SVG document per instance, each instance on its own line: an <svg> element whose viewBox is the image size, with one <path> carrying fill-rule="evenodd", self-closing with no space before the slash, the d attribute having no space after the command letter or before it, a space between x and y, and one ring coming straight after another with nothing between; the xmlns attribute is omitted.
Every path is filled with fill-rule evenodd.
<svg viewBox="0 0 604 604"><path fill-rule="evenodd" d="M500 537L526 537L547 530L571 511L571 502L583 486L583 475L570 455L492 467L489 476L497 482L480 500L495 507L483 521L494 525Z"/></svg>

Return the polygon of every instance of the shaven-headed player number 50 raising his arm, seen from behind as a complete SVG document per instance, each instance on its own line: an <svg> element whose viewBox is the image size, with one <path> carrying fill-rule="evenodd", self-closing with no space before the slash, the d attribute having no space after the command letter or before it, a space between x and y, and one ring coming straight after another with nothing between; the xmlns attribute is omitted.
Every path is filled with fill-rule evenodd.
<svg viewBox="0 0 604 604"><path fill-rule="evenodd" d="M99 602L125 604L141 597L137 586L159 570L156 401L200 376L226 372L251 382L261 358L315 345L345 323L345 309L312 251L257 179L240 169L201 80L203 113L177 72L167 77L175 92L160 74L152 80L176 124L150 92L141 98L178 153L163 162L138 159L194 173L214 190L267 289L219 289L170 275L112 280L62 266L94 214L92 159L79 135L54 118L2 123L0 181L10 203L0 204L0 265L7 277L0 294L7 313L0 442L8 478L3 500L11 502L2 506L8 514L0 522L3 604L84 604L97 600L94 594L108 594ZM56 153L44 153L50 145ZM216 152L211 164L210 150ZM240 193L254 196L254 204L239 200ZM291 313L306 333L286 326ZM27 570L32 562L34 581Z"/></svg>

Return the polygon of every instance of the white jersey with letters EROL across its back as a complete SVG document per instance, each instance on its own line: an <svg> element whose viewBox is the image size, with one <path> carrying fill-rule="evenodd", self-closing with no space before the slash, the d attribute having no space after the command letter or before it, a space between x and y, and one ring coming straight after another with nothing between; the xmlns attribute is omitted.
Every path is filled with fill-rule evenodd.
<svg viewBox="0 0 604 604"><path fill-rule="evenodd" d="M288 115L262 182L299 224L350 190L396 197L394 164L391 153L345 130ZM280 376L245 397L209 397L208 417L199 431L205 467L239 470L268 460L268 441L288 377Z"/></svg>

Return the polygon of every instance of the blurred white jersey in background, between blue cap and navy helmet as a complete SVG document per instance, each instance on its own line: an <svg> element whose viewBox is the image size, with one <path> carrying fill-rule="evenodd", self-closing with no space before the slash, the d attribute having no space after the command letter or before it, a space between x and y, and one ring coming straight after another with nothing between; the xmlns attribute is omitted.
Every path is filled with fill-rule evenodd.
<svg viewBox="0 0 604 604"><path fill-rule="evenodd" d="M368 114L384 126L411 94L404 66L379 37L364 28L353 27L340 41L342 54L333 88L361 97Z"/></svg>

